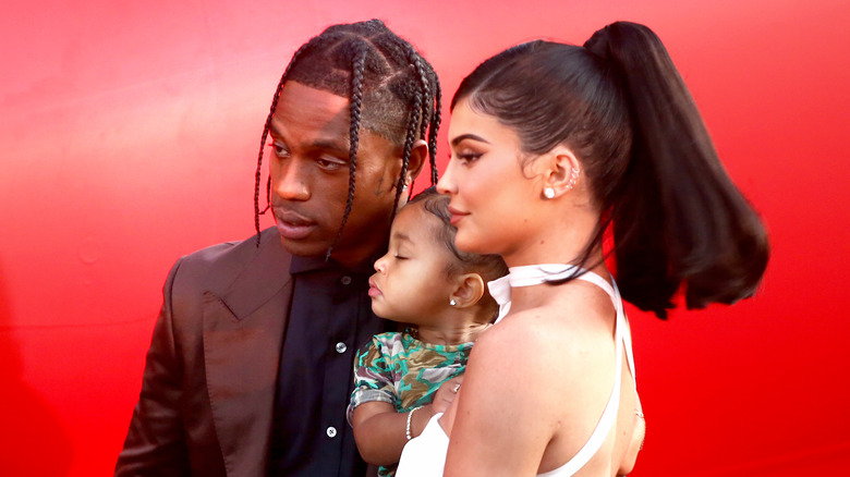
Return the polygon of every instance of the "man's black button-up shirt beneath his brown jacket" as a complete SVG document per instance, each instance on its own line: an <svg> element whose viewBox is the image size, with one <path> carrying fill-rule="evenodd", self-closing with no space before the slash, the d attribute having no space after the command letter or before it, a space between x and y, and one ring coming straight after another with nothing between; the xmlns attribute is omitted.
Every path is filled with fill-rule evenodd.
<svg viewBox="0 0 850 477"><path fill-rule="evenodd" d="M317 257L292 257L294 279L283 340L269 476L362 476L345 420L357 350L386 328L366 294L373 261L347 270Z"/></svg>

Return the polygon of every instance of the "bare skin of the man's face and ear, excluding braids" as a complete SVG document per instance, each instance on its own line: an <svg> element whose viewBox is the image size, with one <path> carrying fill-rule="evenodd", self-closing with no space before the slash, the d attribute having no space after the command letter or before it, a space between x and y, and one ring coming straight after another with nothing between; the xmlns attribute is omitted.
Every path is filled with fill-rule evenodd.
<svg viewBox="0 0 850 477"><path fill-rule="evenodd" d="M321 256L342 223L349 188L349 99L288 82L271 119L271 209L283 247L293 255ZM427 157L417 140L405 182ZM401 148L361 127L354 203L331 257L345 267L374 256L386 244L401 171ZM402 194L399 205L406 197Z"/></svg>

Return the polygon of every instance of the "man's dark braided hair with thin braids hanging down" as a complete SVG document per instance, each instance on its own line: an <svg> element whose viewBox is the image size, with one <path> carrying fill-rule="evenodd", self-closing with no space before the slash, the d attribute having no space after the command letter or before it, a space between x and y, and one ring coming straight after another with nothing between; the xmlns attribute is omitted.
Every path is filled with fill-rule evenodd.
<svg viewBox="0 0 850 477"><path fill-rule="evenodd" d="M436 150L441 91L434 69L406 40L392 33L380 20L333 25L295 51L271 100L257 156L254 188L254 227L257 234L259 216L269 209L271 194L269 178L266 182L266 207L260 210L263 148L280 93L288 81L350 98L349 196L333 243L342 235L354 200L361 125L403 148L401 172L396 184L393 215L416 139L427 138L430 183L434 185L437 182ZM328 257L332 248L333 245L328 249Z"/></svg>

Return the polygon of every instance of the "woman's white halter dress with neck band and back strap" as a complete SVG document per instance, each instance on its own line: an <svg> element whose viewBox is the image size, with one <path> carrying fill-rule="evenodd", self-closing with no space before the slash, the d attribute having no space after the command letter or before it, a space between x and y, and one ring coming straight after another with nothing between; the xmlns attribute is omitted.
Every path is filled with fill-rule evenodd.
<svg viewBox="0 0 850 477"><path fill-rule="evenodd" d="M511 288L531 286L545 283L547 281L557 281L572 276L578 280L591 282L603 289L611 297L614 308L617 310L617 322L615 325L615 379L608 404L605 406L596 429L585 442L584 447L566 464L555 470L545 474L538 474L541 477L568 477L572 476L579 469L590 462L596 452L605 442L605 438L611 430L617 412L620 406L620 382L622 375L622 354L626 352L629 368L634 378L634 360L632 357L631 333L629 332L629 322L626 319L626 313L622 307L620 292L617 284L608 283L605 279L591 271L578 267L562 264L544 264L525 267L512 267L508 276L487 284L490 294L499 304L498 323L510 310ZM436 414L430 418L425 429L420 436L411 439L404 447L399 461L399 467L396 470L397 477L440 477L442 468L446 465L446 452L449 449L449 437L440 427L438 419L442 414Z"/></svg>

